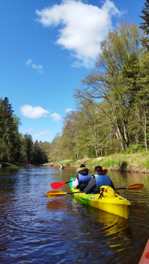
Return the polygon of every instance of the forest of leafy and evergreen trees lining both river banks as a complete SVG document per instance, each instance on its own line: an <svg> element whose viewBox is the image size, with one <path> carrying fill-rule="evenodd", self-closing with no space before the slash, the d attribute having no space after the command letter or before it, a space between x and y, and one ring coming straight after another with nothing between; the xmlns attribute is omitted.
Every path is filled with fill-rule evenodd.
<svg viewBox="0 0 149 264"><path fill-rule="evenodd" d="M149 148L149 1L145 22L122 21L100 43L91 73L74 88L76 110L52 142L19 133L21 120L5 97L0 102L0 160L54 162Z"/></svg>

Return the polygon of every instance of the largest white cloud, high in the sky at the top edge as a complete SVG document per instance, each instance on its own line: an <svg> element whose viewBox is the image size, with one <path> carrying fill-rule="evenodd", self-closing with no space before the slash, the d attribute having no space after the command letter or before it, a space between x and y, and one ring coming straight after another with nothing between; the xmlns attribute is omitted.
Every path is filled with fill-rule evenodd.
<svg viewBox="0 0 149 264"><path fill-rule="evenodd" d="M114 2L105 0L102 7L82 3L82 1L63 0L41 11L36 21L43 26L61 26L55 44L69 50L76 58L74 66L92 67L96 55L100 52L102 36L112 29L112 17L121 12Z"/></svg>

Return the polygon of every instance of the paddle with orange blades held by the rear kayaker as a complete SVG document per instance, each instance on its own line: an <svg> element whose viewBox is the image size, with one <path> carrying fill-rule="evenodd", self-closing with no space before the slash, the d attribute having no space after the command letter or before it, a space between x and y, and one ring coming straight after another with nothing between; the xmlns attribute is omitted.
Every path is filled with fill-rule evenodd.
<svg viewBox="0 0 149 264"><path fill-rule="evenodd" d="M127 190L131 190L131 191L139 191L139 190L142 190L143 186L144 185L142 183L136 183L136 184L132 184L128 187L115 188L115 190L127 189ZM84 191L82 191L82 192L84 192ZM56 198L56 197L59 197L59 196L65 195L65 194L78 194L78 193L81 193L81 192L48 191L46 193L46 195L48 198Z"/></svg>

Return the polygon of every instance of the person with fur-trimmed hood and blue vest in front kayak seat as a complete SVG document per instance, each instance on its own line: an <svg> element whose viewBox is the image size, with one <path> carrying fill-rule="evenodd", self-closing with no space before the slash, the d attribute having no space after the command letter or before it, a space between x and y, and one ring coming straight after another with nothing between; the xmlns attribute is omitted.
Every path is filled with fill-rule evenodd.
<svg viewBox="0 0 149 264"><path fill-rule="evenodd" d="M91 180L91 174L88 172L89 168L85 167L84 164L81 164L80 168L76 170L76 179L72 180L73 188L79 188L79 186L83 183L89 183Z"/></svg>

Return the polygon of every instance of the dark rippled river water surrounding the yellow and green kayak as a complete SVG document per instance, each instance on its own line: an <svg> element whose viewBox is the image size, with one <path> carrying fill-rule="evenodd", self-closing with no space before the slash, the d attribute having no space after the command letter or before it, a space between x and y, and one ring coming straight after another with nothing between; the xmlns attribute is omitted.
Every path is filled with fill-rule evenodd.
<svg viewBox="0 0 149 264"><path fill-rule="evenodd" d="M132 204L129 219L73 195L49 199L50 184L75 177L75 167L1 168L0 263L137 264L149 238L149 175L107 174L115 187L144 184L141 191L120 191ZM70 191L69 183L60 190Z"/></svg>

